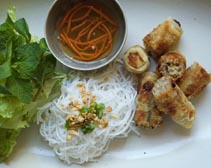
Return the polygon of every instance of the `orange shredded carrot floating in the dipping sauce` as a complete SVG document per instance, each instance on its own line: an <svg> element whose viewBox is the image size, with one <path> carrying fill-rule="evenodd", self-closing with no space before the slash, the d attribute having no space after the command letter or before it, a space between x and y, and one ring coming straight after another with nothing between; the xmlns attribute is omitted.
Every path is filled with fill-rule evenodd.
<svg viewBox="0 0 211 168"><path fill-rule="evenodd" d="M59 39L74 52L74 59L93 61L112 51L117 30L117 23L102 10L80 3L61 20Z"/></svg>

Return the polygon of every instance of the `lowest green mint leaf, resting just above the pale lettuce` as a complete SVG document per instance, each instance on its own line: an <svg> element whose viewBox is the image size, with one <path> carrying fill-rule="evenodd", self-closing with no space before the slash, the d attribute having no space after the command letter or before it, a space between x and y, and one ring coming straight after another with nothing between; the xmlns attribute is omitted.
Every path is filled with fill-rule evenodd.
<svg viewBox="0 0 211 168"><path fill-rule="evenodd" d="M32 84L30 80L10 76L6 81L6 88L23 103L32 101Z"/></svg>

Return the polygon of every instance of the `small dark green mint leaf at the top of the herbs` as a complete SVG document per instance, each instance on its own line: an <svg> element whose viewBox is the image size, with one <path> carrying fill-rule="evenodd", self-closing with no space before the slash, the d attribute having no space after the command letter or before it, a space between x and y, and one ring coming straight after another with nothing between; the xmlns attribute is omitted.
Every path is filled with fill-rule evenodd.
<svg viewBox="0 0 211 168"><path fill-rule="evenodd" d="M25 37L27 43L30 42L31 34L29 33L29 27L24 18L19 19L15 22L15 30Z"/></svg>

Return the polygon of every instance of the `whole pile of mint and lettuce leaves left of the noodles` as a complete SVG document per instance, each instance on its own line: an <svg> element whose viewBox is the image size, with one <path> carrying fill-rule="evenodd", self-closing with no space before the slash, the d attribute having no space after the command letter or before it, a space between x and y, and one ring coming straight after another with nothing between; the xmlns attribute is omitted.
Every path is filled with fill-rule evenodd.
<svg viewBox="0 0 211 168"><path fill-rule="evenodd" d="M0 162L12 153L36 108L59 94L66 76L55 68L45 39L33 40L26 20L16 20L15 7L8 8L0 25Z"/></svg>

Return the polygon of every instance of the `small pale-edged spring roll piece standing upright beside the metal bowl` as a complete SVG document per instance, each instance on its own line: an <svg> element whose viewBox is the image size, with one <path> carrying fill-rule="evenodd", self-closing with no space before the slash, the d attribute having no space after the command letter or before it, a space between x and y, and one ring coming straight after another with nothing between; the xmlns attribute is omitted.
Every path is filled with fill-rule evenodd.
<svg viewBox="0 0 211 168"><path fill-rule="evenodd" d="M149 69L149 57L145 50L139 46L129 48L124 55L125 66L128 71L141 74Z"/></svg>

